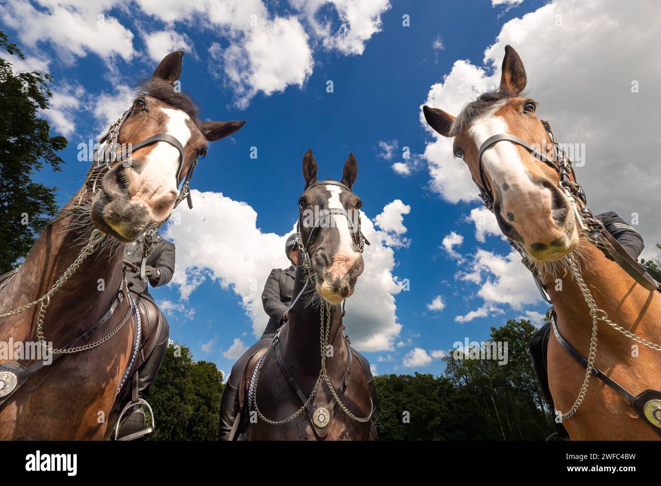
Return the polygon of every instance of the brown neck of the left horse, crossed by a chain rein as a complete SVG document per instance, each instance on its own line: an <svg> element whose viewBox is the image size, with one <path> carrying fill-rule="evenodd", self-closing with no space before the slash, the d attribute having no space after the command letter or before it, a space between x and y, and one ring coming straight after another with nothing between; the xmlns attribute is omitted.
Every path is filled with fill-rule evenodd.
<svg viewBox="0 0 661 486"><path fill-rule="evenodd" d="M73 196L64 210L72 211ZM69 216L48 225L20 266L12 286L9 305L32 302L46 294L77 259L93 229L87 214ZM108 238L108 237L106 237ZM104 242L105 243L105 242ZM98 244L94 253L50 298L44 318L44 335L54 346L73 341L92 327L106 312L122 282L122 246ZM20 301L20 302L19 302ZM7 307L7 302L3 307ZM38 305L19 315L34 331Z"/></svg>

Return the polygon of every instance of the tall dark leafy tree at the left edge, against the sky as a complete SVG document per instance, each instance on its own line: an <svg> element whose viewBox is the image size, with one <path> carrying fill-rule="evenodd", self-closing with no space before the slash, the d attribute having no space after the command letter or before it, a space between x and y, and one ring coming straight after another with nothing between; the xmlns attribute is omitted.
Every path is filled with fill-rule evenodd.
<svg viewBox="0 0 661 486"><path fill-rule="evenodd" d="M24 59L2 31L0 48ZM48 122L38 116L48 108L52 81L41 71L14 73L11 62L0 58L0 274L17 266L58 211L56 188L32 181L44 163L61 170L56 152L67 146L64 137L50 136Z"/></svg>

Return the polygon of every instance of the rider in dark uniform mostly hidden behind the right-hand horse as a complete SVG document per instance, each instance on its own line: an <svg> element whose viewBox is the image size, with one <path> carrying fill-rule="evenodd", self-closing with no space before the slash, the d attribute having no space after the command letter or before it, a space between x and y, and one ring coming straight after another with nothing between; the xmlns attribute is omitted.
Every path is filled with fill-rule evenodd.
<svg viewBox="0 0 661 486"><path fill-rule="evenodd" d="M622 218L617 216L615 212L609 211L607 213L598 214L597 218L603 223L607 231L613 235L617 242L633 257L638 259L644 249L645 245L642 241L642 236L631 225L624 222ZM549 345L549 337L551 336L551 323L547 322L543 325L532 341L530 341L530 356L532 359L533 370L537 376L537 382L541 388L544 400L549 407L549 411L553 414L555 406L553 405L553 397L549 389L549 376L547 372L547 346ZM554 417L554 425L557 430L557 436L560 438L568 438L568 434L561 423L557 423Z"/></svg>

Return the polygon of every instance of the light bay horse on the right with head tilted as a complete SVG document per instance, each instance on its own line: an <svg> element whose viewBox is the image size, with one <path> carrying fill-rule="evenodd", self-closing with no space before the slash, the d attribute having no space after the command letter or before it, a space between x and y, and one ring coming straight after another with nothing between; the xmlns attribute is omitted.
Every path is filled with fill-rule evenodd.
<svg viewBox="0 0 661 486"><path fill-rule="evenodd" d="M658 439L658 283L586 206L550 124L522 95L526 81L522 60L506 46L497 91L456 118L428 106L424 116L436 132L454 138L453 152L465 161L486 207L551 297L557 319L549 386L570 438Z"/></svg>

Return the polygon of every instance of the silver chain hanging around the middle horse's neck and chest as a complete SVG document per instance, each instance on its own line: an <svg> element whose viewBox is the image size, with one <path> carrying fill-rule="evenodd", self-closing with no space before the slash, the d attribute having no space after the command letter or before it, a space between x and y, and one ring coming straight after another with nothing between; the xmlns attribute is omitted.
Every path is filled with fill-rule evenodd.
<svg viewBox="0 0 661 486"><path fill-rule="evenodd" d="M356 417L356 415L354 415L344 406L344 403L342 403L340 397L338 397L335 388L331 383L331 380L326 371L326 348L328 346L329 335L331 333L331 306L324 302L320 306L319 314L321 317L321 325L319 326L319 342L321 348L321 370L319 371L319 378L317 378L317 383L315 384L312 393L310 393L310 396L307 397L307 400L305 401L305 403L303 403L303 407L299 408L297 411L295 411L292 415L290 415L286 419L280 421L273 421L271 419L264 417L259 407L257 406L257 382L259 380L259 374L262 369L262 366L264 365L264 361L266 360L266 356L268 356L268 352L270 352L274 344L280 339L280 329L282 329L282 327L278 330L278 333L272 339L271 344L269 344L268 346L268 349L266 349L266 352L262 355L259 362L257 363L257 366L255 367L253 376L251 377L251 382L248 391L249 403L254 403L254 410L257 412L258 417L267 424L284 425L288 422L291 422L299 415L301 415L301 413L303 413L303 411L307 408L307 406L311 403L312 399L317 394L317 389L319 389L319 385L321 384L322 378L326 381L327 385L331 389L331 393L335 401L338 403L338 405L340 405L342 410L344 410L344 413L346 413L346 415L348 415L351 419L354 419L357 422L368 422L369 419L371 419L371 415L374 411L374 403L371 399L371 396L369 397L369 415L367 417ZM324 314L326 315L325 324L324 324ZM351 352L351 350L349 350L349 352Z"/></svg>

